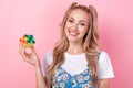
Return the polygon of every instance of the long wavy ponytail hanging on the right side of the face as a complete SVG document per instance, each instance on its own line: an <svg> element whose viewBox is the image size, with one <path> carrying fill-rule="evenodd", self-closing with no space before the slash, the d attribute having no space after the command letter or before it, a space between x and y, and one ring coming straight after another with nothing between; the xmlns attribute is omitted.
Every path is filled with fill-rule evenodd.
<svg viewBox="0 0 133 88"><path fill-rule="evenodd" d="M89 62L89 66L91 67L92 72L92 81L93 85L96 87L99 79L98 79L98 52L99 52L99 33L98 33L98 12L96 9L93 6L89 6L90 10L90 32L89 32L89 42L90 46L89 50L93 53L93 57L91 57ZM86 54L86 57L91 55Z"/></svg>

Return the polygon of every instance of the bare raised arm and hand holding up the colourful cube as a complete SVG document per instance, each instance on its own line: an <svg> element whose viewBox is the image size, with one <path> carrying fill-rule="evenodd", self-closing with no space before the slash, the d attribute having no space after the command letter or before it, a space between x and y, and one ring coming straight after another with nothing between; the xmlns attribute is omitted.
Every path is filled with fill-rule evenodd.
<svg viewBox="0 0 133 88"><path fill-rule="evenodd" d="M47 88L41 70L40 59L33 46L31 47L31 51L32 51L31 54L28 54L25 52L25 46L23 44L20 44L19 50L20 55L25 62L33 65L35 68L37 88Z"/></svg>

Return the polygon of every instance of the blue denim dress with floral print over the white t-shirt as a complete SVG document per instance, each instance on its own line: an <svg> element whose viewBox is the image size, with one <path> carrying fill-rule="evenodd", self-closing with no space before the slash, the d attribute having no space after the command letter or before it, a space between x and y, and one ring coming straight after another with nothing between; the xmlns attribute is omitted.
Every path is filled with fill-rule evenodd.
<svg viewBox="0 0 133 88"><path fill-rule="evenodd" d="M94 88L90 68L72 76L60 66L55 72L55 80L52 81L52 88Z"/></svg>

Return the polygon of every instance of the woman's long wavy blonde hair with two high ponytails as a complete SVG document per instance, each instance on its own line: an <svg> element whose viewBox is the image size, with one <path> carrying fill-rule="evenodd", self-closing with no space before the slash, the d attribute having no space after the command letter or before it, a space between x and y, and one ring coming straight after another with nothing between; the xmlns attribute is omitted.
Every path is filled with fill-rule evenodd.
<svg viewBox="0 0 133 88"><path fill-rule="evenodd" d="M64 33L65 23L70 13L75 10L81 9L89 13L89 28L88 33L83 37L83 52L86 54L88 66L91 68L92 74L92 84L98 85L98 54L99 54L99 34L98 34L98 12L93 6L81 6L76 2L73 2L70 8L66 10L64 18L61 23L61 37L57 42L55 47L53 48L53 62L48 67L47 70L47 85L48 88L51 88L52 80L54 80L55 70L59 66L64 63L64 52L69 47L69 41Z"/></svg>

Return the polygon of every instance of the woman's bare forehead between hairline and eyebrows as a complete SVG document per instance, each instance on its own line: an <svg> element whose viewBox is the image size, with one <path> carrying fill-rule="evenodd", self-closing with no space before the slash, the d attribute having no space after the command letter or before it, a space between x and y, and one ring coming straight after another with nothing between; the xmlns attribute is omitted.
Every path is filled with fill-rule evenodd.
<svg viewBox="0 0 133 88"><path fill-rule="evenodd" d="M82 9L75 9L71 11L69 18L73 18L75 20L89 21L89 13Z"/></svg>

